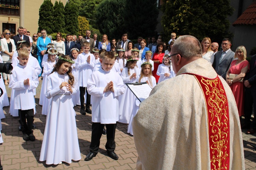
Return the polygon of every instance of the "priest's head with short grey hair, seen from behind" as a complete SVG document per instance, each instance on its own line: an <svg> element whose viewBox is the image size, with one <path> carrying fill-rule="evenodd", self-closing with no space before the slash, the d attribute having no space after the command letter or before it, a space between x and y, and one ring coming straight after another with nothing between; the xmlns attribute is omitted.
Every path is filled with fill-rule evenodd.
<svg viewBox="0 0 256 170"><path fill-rule="evenodd" d="M196 37L183 35L177 38L172 46L172 68L177 72L186 64L202 58L202 48Z"/></svg>

